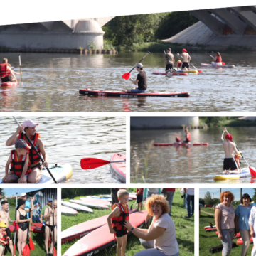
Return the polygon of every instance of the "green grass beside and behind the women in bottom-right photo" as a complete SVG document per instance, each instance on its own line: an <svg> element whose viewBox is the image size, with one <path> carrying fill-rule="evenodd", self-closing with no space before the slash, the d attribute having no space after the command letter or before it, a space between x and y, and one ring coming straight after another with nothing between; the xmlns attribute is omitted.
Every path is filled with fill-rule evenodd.
<svg viewBox="0 0 256 256"><path fill-rule="evenodd" d="M214 213L213 208L201 208L201 210L207 213ZM210 248L216 247L218 245L222 245L221 241L218 239L218 235L214 232L206 232L203 227L210 225L213 223L215 225L214 216L208 215L206 213L202 213L201 211L201 218L199 219L199 255L207 256L210 254ZM238 238L233 239L233 242L236 243ZM249 249L247 251L247 255L251 254L253 244L249 245ZM240 256L242 250L242 245L237 245L237 247L233 247L231 251L232 256ZM215 253L216 256L221 256L221 251Z"/></svg>

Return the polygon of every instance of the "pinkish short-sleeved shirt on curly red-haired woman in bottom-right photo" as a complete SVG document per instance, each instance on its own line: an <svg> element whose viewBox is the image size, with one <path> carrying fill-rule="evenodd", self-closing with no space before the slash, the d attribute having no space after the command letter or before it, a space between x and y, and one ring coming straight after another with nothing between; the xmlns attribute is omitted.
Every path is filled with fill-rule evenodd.
<svg viewBox="0 0 256 256"><path fill-rule="evenodd" d="M224 206L223 203L219 203L215 209L220 210L220 228L221 229L228 229L228 228L235 228L235 212L234 207L232 205Z"/></svg>

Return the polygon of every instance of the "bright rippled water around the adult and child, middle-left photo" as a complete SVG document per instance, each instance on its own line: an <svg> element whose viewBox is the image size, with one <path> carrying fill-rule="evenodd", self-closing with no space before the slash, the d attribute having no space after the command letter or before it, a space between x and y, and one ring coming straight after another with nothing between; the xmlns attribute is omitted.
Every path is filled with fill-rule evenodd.
<svg viewBox="0 0 256 256"><path fill-rule="evenodd" d="M73 167L73 176L65 183L120 183L110 171L110 164L97 169L82 170L80 159L93 157L110 160L114 153L126 151L125 117L19 117L33 119L38 123L37 132L48 154L48 163L68 163ZM12 117L0 117L0 177L5 174L10 150L6 140L16 132Z"/></svg>

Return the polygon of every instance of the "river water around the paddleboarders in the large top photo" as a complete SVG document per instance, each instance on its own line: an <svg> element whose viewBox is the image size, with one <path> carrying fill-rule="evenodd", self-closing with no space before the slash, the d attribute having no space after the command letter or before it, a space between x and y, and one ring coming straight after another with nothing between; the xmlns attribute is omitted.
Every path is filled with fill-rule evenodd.
<svg viewBox="0 0 256 256"><path fill-rule="evenodd" d="M223 53L223 61L235 68L201 68L209 53L191 53L201 75L152 75L165 70L164 53L144 60L150 92L190 92L188 98L119 98L79 95L80 89L123 90L132 82L129 72L145 53L79 55L22 53L23 85L0 88L0 111L37 112L240 112L255 111L256 58L252 53ZM213 54L213 53L212 53ZM176 57L176 54L174 54ZM18 53L1 53L18 71ZM178 58L176 58L176 61ZM132 72L131 78L136 78ZM19 76L18 76L18 79Z"/></svg>

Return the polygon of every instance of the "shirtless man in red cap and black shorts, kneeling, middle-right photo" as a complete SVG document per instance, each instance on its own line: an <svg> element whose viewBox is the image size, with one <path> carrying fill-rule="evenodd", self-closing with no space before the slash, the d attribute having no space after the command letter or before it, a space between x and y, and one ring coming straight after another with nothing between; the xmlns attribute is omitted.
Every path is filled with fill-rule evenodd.
<svg viewBox="0 0 256 256"><path fill-rule="evenodd" d="M227 128L223 129L223 132L221 133L220 141L223 144L224 152L225 152L225 159L223 163L223 174L240 174L240 171L238 171L238 167L235 164L235 159L233 152L235 151L235 154L242 154L242 151L238 151L236 149L235 143L233 143L233 137L231 134L225 135L225 141L223 139L224 133L227 131ZM228 171L231 169L231 171Z"/></svg>

